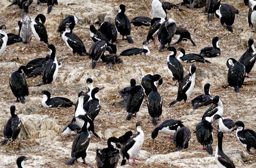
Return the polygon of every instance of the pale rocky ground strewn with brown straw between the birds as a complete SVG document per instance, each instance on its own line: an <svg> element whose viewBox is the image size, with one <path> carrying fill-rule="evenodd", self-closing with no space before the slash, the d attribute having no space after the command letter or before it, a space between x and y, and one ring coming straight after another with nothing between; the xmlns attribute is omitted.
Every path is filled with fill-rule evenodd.
<svg viewBox="0 0 256 168"><path fill-rule="evenodd" d="M34 0L35 1L35 0ZM180 3L181 0L170 1ZM256 79L246 78L244 86L240 93L227 86L227 66L228 58L239 60L246 50L246 41L249 38L256 39L256 34L250 32L247 23L248 7L243 5L243 1L222 0L222 3L229 3L239 9L236 14L236 20L233 24L233 33L230 33L221 26L220 21L213 17L212 22L207 23L207 14L203 9L191 10L184 6L186 12L177 10L168 11L168 17L174 19L178 26L189 30L192 39L197 46L192 46L190 41L183 41L176 45L177 48L183 47L186 53L199 53L200 49L205 46L211 46L212 38L215 36L222 37L219 46L221 47L221 56L217 58L208 58L212 64L195 63L196 80L195 89L187 102L192 98L203 93L204 84L211 84L212 96L218 95L224 104L224 118L230 118L234 121L241 120L246 128L256 130ZM17 20L20 20L20 10L17 6L7 8L10 4L8 0L2 0L0 3L0 24L6 25L6 32L17 34ZM69 3L69 4L68 4ZM25 165L27 168L32 167L49 167L64 168L64 163L70 158L71 147L74 136L61 137L62 129L71 121L74 115L74 107L71 108L51 108L46 109L41 105L41 90L49 90L52 96L64 96L74 102L81 90L86 91L86 79L93 78L94 86L102 87L99 95L102 110L95 120L95 129L102 137L102 140L91 138L91 145L86 161L96 167L95 155L97 148L106 147L106 139L111 136L120 136L128 130L136 133L135 124L142 121L145 133L145 141L142 151L138 156L137 168L217 168L214 155L210 156L206 151L199 150L201 145L197 142L195 134L192 133L189 148L181 152L175 152L173 142L167 142L167 136L159 134L152 144L151 132L154 126L151 124L151 118L148 115L146 103L144 102L137 118L131 121L125 121L126 109L122 106L119 90L129 86L131 78L137 80L147 73L158 73L167 78L164 79L163 85L159 87L159 92L163 96L163 114L161 122L166 119L180 119L184 125L194 132L195 126L200 122L201 116L208 107L201 107L198 110L192 110L190 103L177 103L173 107L167 104L175 100L177 96L177 86L171 86L168 82L168 71L166 69L166 58L169 54L167 51L158 53L158 48L153 47L150 43L150 56L132 56L123 57L123 64L115 65L113 69L103 63L97 63L96 69L91 70L91 61L85 56L72 56L70 49L64 41L59 38L56 32L60 21L70 14L76 15L79 23L76 25L73 33L78 35L84 42L87 51L92 45L89 35L89 26L99 22L114 22L115 14L119 10L119 5L123 3L127 6L126 14L131 19L136 16L153 17L151 12L151 0L73 0L72 3L67 0L58 0L58 6L53 6L52 12L47 14L47 5L38 6L33 2L29 7L30 17L35 18L37 14L45 14L47 17L46 27L48 31L49 43L56 47L57 59L62 61L63 67L59 70L57 80L54 85L43 85L33 87L41 82L41 77L27 79L29 85L29 96L26 97L26 104L14 103L16 113L22 121L22 130L17 145L6 145L0 148L0 167L15 167L18 156L25 155L32 157ZM97 28L97 27L96 27ZM127 41L117 41L117 53L131 47L141 47L148 33L148 27L132 26L131 36L134 44L128 44ZM118 38L121 38L119 35ZM159 45L159 43L158 43ZM8 101L14 100L10 87L9 75L18 69L20 65L26 65L30 60L38 57L45 57L49 53L47 46L38 45L38 41L32 36L31 45L22 46L16 43L7 46L6 51L0 56L0 137L3 139L3 127L10 117L9 108L13 103ZM189 71L191 64L183 63L184 75ZM256 75L253 68L252 75ZM213 149L217 144L217 133L214 133ZM224 152L230 156L236 167L253 168L256 167L256 156L247 154L246 149L236 139L234 132L224 135L223 142ZM214 151L215 152L215 151ZM80 160L81 161L81 160ZM83 164L77 163L69 167L84 167ZM129 167L129 166L124 166Z"/></svg>

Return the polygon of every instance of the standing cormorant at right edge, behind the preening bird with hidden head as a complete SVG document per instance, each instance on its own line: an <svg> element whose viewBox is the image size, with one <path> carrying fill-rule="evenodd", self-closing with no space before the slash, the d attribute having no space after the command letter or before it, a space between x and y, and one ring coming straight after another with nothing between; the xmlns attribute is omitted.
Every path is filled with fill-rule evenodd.
<svg viewBox="0 0 256 168"><path fill-rule="evenodd" d="M244 64L245 76L248 78L256 78L256 76L251 76L250 71L253 69L253 65L256 61L256 51L253 45L254 41L252 38L248 40L249 49L241 56L239 62Z"/></svg>

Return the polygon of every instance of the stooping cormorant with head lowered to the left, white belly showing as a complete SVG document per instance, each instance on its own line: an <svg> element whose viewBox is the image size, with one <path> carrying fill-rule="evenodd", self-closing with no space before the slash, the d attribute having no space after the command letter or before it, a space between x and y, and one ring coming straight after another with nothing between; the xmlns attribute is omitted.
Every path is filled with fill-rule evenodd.
<svg viewBox="0 0 256 168"><path fill-rule="evenodd" d="M162 124L156 127L151 133L153 142L154 142L154 139L157 137L158 133L164 133L166 135L169 135L168 141L171 141L174 133L177 130L179 130L181 127L184 127L182 123L183 122L180 120L174 120L174 119L165 120Z"/></svg>

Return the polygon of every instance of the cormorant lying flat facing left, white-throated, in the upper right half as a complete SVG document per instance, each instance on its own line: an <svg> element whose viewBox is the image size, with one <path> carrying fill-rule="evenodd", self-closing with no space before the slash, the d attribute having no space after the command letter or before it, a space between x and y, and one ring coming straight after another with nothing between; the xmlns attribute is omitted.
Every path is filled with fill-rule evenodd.
<svg viewBox="0 0 256 168"><path fill-rule="evenodd" d="M190 53L190 54L186 54L185 49L183 48L179 48L178 49L180 51L180 55L177 56L177 60L179 60L180 62L201 62L201 63L211 63L210 61L204 59L203 56L199 55L199 54L195 54L195 53Z"/></svg>

